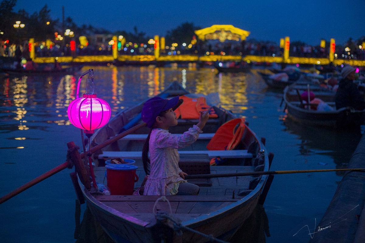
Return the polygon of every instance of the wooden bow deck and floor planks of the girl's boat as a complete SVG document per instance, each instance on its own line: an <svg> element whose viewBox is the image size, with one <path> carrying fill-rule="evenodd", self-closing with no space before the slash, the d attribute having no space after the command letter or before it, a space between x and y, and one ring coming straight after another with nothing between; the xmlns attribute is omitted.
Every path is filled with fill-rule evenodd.
<svg viewBox="0 0 365 243"><path fill-rule="evenodd" d="M250 172L253 170L253 166L211 166L212 174ZM107 185L107 179L104 176L105 167L96 167L94 172L96 181ZM138 188L145 176L142 166L138 167L136 173L139 176L139 180L135 183L135 188ZM238 196L238 194L249 189L249 183L252 179L254 179L254 177L251 176L212 178L210 179L211 186L200 186L198 196L166 196L166 198L170 202L171 210L175 217L185 221L200 215L209 214L226 207L235 201L241 200L242 197ZM194 182L193 180L188 181L191 183ZM234 198L233 191L235 192ZM135 195L95 196L97 200L103 202L105 205L141 220L151 219L155 201L159 197L160 196ZM160 201L157 203L156 207L157 211L170 211L167 202Z"/></svg>

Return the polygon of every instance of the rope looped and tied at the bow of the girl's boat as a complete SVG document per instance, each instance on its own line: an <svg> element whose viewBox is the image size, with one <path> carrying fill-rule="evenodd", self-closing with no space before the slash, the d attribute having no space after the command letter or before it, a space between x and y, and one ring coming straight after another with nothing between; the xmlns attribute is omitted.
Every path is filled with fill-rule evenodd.
<svg viewBox="0 0 365 243"><path fill-rule="evenodd" d="M170 207L170 214L172 214L172 210L171 210L171 205L170 205L170 202L169 200L165 197L165 196L162 196L160 198L158 198L156 201L155 201L155 204L153 206L153 213L155 214L155 217L158 221L160 222L164 222L166 219L167 220L170 220L170 222L172 222L173 224L169 224L169 222L166 222L165 224L167 224L169 227L171 227L174 231L176 231L176 235L182 235L183 232L181 230L187 230L187 231L191 231L195 234L198 234L200 236L204 236L208 239L210 239L212 242L219 242L219 243L229 243L229 242L226 242L224 240L220 240L218 238L215 238L213 235L207 235L207 234L204 234L202 232L199 232L199 231L196 231L196 230L193 230L192 228L189 228L187 226L184 226L183 224L181 224L179 222L178 219L175 219L174 217L172 217L171 215L167 214L167 213L162 213L162 212L155 212L155 207L158 203L158 201L163 200L163 201L167 201L167 203L169 204L169 207ZM156 209L157 211L157 209Z"/></svg>

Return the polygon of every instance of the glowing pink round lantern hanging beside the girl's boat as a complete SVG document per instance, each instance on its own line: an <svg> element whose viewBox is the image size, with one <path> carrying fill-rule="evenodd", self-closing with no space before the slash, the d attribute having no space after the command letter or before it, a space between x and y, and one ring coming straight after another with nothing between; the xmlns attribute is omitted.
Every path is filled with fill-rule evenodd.
<svg viewBox="0 0 365 243"><path fill-rule="evenodd" d="M97 98L96 94L84 94L82 98L70 103L67 115L72 125L84 129L84 133L89 137L95 129L108 123L111 109L108 102Z"/></svg>

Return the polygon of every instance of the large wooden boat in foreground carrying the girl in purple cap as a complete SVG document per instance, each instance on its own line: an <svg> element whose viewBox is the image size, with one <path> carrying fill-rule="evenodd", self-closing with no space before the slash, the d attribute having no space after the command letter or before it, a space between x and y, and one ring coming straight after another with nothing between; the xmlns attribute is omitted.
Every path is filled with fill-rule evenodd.
<svg viewBox="0 0 365 243"><path fill-rule="evenodd" d="M168 94L168 97L193 95L177 82L172 83L162 93ZM140 117L143 103L121 111L106 126L100 128L91 137L91 147L116 136L128 122ZM217 106L213 108L218 118L208 120L203 129L204 133L193 145L179 149L180 168L187 171L189 175L199 174L199 171L203 174L268 171L273 154L268 154L262 142L264 140L258 139L248 124L235 150L208 151L206 149L209 137L219 126L235 118L230 111ZM171 127L170 132L183 133L197 121L197 119L178 119L178 125ZM145 176L141 162L141 149L147 133L149 128L139 128L119 141L97 150L93 153L93 157L100 163L108 158L133 158L136 160L135 165L139 166L137 174L141 179L135 184L135 187L139 187ZM210 166L209 159L219 155L227 158L227 161L221 165ZM96 167L97 171L100 169L103 175L105 168ZM83 197L92 214L115 242L199 243L210 241L201 234L212 235L222 240L230 239L250 216L255 206L263 203L272 180L271 176L189 179L189 182L200 186L199 195L166 196L168 202L158 202L156 206L158 212L166 211L165 214L153 212L155 202L160 199L160 196L95 196L80 180L78 184L81 186ZM101 177L97 176L96 180L103 180L104 176ZM182 228L174 229L172 222Z"/></svg>

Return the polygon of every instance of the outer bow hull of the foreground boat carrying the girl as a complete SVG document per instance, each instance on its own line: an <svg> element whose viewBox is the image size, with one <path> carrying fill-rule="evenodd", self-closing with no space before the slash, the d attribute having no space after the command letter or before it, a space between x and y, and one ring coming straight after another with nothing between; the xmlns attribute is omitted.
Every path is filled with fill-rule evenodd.
<svg viewBox="0 0 365 243"><path fill-rule="evenodd" d="M253 212L260 198L262 188L252 192L251 195L247 195L249 197L248 200L236 203L237 205L222 208L215 216L207 216L207 219L199 222L182 222L182 224L203 234L212 235L222 240L229 240ZM177 235L176 231L166 227L164 224L151 225L151 222L143 222L128 215L123 215L123 213L100 203L85 189L83 194L91 213L115 242L160 242L161 236L158 234L162 233L171 242L204 243L210 240L187 230L182 230L183 234ZM171 216L173 217L173 215ZM151 214L151 217L154 217L154 215ZM157 228L160 228L162 232L157 232Z"/></svg>

